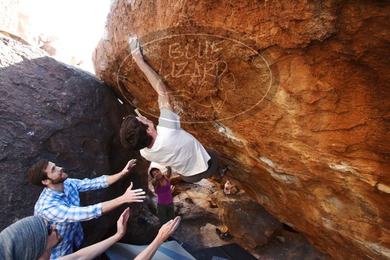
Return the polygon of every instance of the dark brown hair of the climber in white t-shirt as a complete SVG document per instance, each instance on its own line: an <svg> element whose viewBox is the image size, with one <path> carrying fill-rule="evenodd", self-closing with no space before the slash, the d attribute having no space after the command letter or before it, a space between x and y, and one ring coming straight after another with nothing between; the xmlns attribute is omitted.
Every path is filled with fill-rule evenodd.
<svg viewBox="0 0 390 260"><path fill-rule="evenodd" d="M135 116L126 116L120 127L120 142L127 149L144 149L145 147L148 147L153 140L152 136L148 135L146 132L148 128L148 125L139 122Z"/></svg>

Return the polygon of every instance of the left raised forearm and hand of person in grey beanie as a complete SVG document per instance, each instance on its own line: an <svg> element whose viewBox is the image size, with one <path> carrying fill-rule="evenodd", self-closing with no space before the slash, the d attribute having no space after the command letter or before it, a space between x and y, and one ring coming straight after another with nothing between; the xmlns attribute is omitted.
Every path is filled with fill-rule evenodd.
<svg viewBox="0 0 390 260"><path fill-rule="evenodd" d="M88 247L78 250L76 253L60 257L59 260L87 260L94 259L97 256L101 255L106 251L110 246L115 242L119 241L126 234L127 220L130 216L130 209L126 208L120 215L119 220L117 221L117 233L103 241L100 241L96 244L90 245Z"/></svg>

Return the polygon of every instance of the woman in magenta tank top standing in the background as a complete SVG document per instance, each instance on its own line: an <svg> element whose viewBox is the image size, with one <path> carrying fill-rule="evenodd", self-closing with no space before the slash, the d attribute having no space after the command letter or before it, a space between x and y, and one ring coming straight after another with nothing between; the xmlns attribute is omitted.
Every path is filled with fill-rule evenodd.
<svg viewBox="0 0 390 260"><path fill-rule="evenodd" d="M175 219L175 208L171 193L171 167L167 167L167 175L161 173L158 168L151 168L149 171L152 176L153 187L157 194L157 213L161 225Z"/></svg>

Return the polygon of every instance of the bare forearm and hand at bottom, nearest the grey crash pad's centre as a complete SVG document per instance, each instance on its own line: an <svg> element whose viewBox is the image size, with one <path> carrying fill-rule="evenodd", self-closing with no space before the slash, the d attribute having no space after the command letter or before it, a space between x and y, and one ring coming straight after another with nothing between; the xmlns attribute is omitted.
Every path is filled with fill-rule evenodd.
<svg viewBox="0 0 390 260"><path fill-rule="evenodd" d="M180 217L165 223L158 231L155 240L148 245L134 260L150 260L156 254L158 247L171 236L180 224Z"/></svg>

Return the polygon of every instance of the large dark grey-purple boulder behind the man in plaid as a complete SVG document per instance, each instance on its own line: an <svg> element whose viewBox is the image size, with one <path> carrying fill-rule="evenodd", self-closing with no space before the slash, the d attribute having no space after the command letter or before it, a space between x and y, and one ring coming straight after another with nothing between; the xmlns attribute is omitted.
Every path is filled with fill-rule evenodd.
<svg viewBox="0 0 390 260"><path fill-rule="evenodd" d="M39 158L56 162L71 178L78 179L117 173L129 159L138 159L120 183L82 192L83 205L122 195L130 181L147 190L149 162L122 148L118 132L126 112L107 85L9 37L0 37L0 53L0 230L33 215L42 189L28 183L27 171ZM116 232L124 207L83 222L86 240L97 241L110 228ZM148 210L146 203L130 207L133 221L129 226L134 227L137 216L147 215ZM139 229L143 237L151 234L151 227L153 223ZM129 232L127 239L132 235L137 234Z"/></svg>

